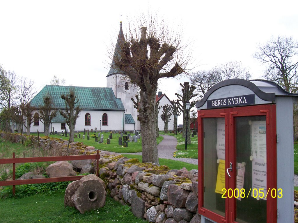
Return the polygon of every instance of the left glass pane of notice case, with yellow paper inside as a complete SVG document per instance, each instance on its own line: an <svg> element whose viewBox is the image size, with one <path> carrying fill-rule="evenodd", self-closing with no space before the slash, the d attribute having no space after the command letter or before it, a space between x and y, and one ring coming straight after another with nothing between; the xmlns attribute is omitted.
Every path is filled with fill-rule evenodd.
<svg viewBox="0 0 298 223"><path fill-rule="evenodd" d="M225 119L204 118L204 202L203 207L225 217Z"/></svg>

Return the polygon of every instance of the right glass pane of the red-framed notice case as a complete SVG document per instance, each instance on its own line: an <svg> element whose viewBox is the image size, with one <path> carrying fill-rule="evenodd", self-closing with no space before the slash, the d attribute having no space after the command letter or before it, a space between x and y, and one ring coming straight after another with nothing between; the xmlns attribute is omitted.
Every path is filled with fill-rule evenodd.
<svg viewBox="0 0 298 223"><path fill-rule="evenodd" d="M236 222L266 222L266 116L235 117L235 144Z"/></svg>

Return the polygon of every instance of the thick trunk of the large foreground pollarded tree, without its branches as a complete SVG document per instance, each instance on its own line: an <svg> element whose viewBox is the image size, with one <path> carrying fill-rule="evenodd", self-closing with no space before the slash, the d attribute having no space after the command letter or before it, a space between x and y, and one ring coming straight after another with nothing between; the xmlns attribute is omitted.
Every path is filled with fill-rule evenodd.
<svg viewBox="0 0 298 223"><path fill-rule="evenodd" d="M142 162L158 163L156 143L156 89L150 92L141 90L139 121L142 127Z"/></svg>

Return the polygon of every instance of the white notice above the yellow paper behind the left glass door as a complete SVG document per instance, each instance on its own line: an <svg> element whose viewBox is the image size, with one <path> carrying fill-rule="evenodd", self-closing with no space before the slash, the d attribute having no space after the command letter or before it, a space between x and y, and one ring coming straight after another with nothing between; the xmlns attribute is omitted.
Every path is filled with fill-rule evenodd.
<svg viewBox="0 0 298 223"><path fill-rule="evenodd" d="M216 142L216 151L217 158L225 160L226 156L226 141L225 141L225 120L224 118L217 119L217 142Z"/></svg>

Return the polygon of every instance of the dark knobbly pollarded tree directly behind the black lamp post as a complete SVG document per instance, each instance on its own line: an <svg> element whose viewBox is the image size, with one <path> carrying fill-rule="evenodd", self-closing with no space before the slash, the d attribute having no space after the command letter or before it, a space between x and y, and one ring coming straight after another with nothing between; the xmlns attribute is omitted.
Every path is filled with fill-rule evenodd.
<svg viewBox="0 0 298 223"><path fill-rule="evenodd" d="M177 105L179 107L179 110L183 114L183 131L182 131L182 137L185 137L186 135L186 118L187 112L190 112L190 109L195 106L195 101L190 101L191 99L195 98L197 94L194 94L195 86L189 85L189 82L184 82L184 84L180 83L180 86L182 87L182 95L176 93L175 95L177 96ZM181 103L180 103L181 102ZM190 109L186 110L186 103L190 102ZM190 122L187 124L187 144L190 144Z"/></svg>

